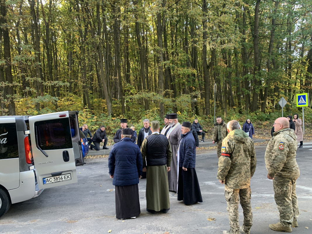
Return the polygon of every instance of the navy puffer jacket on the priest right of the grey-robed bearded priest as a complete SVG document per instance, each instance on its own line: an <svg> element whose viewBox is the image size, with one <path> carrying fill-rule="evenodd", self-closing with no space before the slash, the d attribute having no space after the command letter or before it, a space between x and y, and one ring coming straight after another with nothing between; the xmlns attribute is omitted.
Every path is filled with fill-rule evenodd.
<svg viewBox="0 0 312 234"><path fill-rule="evenodd" d="M196 145L191 131L181 134L179 157L179 167L195 168Z"/></svg>

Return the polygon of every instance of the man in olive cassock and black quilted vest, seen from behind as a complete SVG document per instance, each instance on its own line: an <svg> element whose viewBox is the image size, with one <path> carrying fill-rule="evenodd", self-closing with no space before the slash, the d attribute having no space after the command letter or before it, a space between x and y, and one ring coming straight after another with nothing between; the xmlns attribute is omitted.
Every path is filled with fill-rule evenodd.
<svg viewBox="0 0 312 234"><path fill-rule="evenodd" d="M159 121L152 121L152 134L141 146L143 171L146 171L146 210L153 214L156 211L167 213L170 209L167 172L170 171L172 151L170 141L159 130Z"/></svg>

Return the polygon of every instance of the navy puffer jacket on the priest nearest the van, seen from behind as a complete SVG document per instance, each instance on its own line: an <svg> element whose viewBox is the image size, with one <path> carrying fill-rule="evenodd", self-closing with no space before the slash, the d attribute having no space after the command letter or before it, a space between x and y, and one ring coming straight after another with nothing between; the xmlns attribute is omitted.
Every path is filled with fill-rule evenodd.
<svg viewBox="0 0 312 234"><path fill-rule="evenodd" d="M143 160L140 148L125 137L114 144L108 157L109 174L114 175L113 185L125 186L139 183Z"/></svg>

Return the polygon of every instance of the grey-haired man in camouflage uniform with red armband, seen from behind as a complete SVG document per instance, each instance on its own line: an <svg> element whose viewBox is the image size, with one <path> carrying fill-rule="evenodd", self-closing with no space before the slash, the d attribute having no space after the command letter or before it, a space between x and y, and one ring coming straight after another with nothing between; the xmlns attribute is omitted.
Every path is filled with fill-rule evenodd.
<svg viewBox="0 0 312 234"><path fill-rule="evenodd" d="M223 234L250 233L252 226L250 179L256 170L256 151L252 139L236 120L227 124L229 134L222 141L221 157L217 178L221 184L225 183L224 196L227 201L230 231ZM238 202L241 200L244 223L238 224Z"/></svg>

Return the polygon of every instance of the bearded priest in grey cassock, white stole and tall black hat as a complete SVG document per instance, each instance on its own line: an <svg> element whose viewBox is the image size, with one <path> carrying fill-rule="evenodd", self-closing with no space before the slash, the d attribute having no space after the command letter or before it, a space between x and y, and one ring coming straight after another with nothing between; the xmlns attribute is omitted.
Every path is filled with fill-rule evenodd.
<svg viewBox="0 0 312 234"><path fill-rule="evenodd" d="M170 171L168 172L168 186L169 191L177 192L178 187L178 165L177 165L177 151L178 143L181 139L181 124L178 122L178 115L175 113L169 114L170 129L166 134L171 144L172 160L170 164Z"/></svg>

